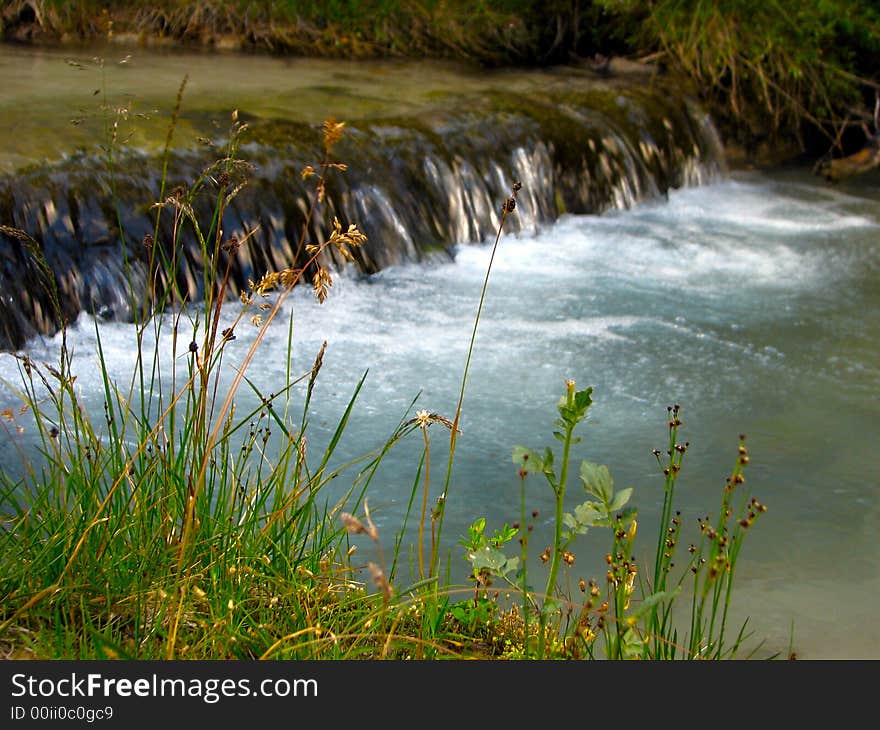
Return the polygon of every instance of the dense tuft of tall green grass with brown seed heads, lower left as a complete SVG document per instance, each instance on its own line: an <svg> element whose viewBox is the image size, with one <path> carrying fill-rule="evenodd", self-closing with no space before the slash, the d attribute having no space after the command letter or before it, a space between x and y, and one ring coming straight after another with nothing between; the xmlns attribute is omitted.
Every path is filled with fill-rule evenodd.
<svg viewBox="0 0 880 730"><path fill-rule="evenodd" d="M359 585L338 517L346 503L357 507L384 454L415 427L402 419L381 448L334 467L364 379L315 458L307 448L310 401L327 343L309 370L288 372L275 392L261 391L248 376L273 320L306 272L313 272L311 285L323 302L333 283L321 263L324 252L332 247L350 259L366 238L355 224L335 219L319 244L307 243L303 233L304 266L251 281L232 324L224 326L221 308L235 306L230 268L253 233L236 237L222 230L224 209L248 183L249 166L239 156L246 129L233 113L224 155L188 187L166 194L163 176L155 233L142 242L151 286L143 292L132 284L129 292L138 315L127 383L109 372L95 325L101 412L92 412L77 388L67 323L59 322L59 362L17 356L21 385L6 385L20 400L20 416L33 419L39 453L22 453L21 479L0 475L0 636L24 651L170 659L257 657L271 647L276 657L334 656L355 651L344 647L357 640L328 644L322 638L328 603L329 615L343 626L337 631L351 636L362 632L357 621L382 610L361 597L354 623L346 612L345 594L357 594ZM315 182L310 216L321 209L326 176L344 171L333 158L344 124L328 119L323 132L324 159L303 170ZM199 219L193 205L203 195L214 200L208 220ZM173 220L169 241L159 240L160 216ZM46 269L51 286L37 243L15 233ZM199 302L175 288L175 252L184 237L194 237L201 248ZM245 328L255 334L239 339ZM292 319L287 336L291 352ZM300 384L306 395L297 408ZM237 397L242 386L248 399ZM256 405L242 410L245 401ZM322 488L345 469L354 472L347 493L332 502L322 498Z"/></svg>

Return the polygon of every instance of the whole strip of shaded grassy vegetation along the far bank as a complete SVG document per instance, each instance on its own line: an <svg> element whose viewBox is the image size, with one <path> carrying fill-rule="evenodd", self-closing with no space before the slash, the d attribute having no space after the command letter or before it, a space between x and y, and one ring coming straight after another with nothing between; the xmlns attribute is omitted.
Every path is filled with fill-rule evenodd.
<svg viewBox="0 0 880 730"><path fill-rule="evenodd" d="M880 11L869 0L16 0L0 35L600 70L624 55L687 79L730 142L814 154L857 149L880 88Z"/></svg>

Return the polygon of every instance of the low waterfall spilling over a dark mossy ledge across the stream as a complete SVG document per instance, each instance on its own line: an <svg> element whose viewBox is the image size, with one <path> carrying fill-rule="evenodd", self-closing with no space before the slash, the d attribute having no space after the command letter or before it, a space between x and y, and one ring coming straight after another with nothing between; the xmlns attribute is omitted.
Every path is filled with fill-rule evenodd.
<svg viewBox="0 0 880 730"><path fill-rule="evenodd" d="M302 265L296 255L314 188L300 173L322 157L318 128L248 121L240 151L250 164L247 185L226 209L222 229L225 238L259 229L237 252L222 254L234 256L232 293L268 270ZM192 185L217 159L217 149L174 152L165 195ZM529 231L563 213L627 208L725 171L706 114L685 99L641 87L528 99L462 95L455 108L348 121L335 151L348 169L328 178L307 240L322 240L334 216L357 223L369 239L354 266L362 274L449 257L454 246L486 240L497 230L514 180L522 191L507 230ZM70 321L81 311L133 319L132 308L142 302L132 292L148 290L144 241L156 225L161 170L158 158L119 150L112 172L105 160L81 154L0 179L0 349L56 331L57 308ZM193 201L204 229L215 203L209 194ZM210 282L190 230L176 238L172 216L163 211L153 245L175 262L177 287L196 301ZM41 260L51 270L58 307Z"/></svg>

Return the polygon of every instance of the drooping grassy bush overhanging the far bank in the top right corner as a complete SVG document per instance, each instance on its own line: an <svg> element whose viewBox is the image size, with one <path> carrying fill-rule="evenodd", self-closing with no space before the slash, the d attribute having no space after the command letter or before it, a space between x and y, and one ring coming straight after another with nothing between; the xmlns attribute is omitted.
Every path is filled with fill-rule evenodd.
<svg viewBox="0 0 880 730"><path fill-rule="evenodd" d="M802 150L865 142L880 89L873 2L601 4L628 17L633 47L691 80L729 141Z"/></svg>

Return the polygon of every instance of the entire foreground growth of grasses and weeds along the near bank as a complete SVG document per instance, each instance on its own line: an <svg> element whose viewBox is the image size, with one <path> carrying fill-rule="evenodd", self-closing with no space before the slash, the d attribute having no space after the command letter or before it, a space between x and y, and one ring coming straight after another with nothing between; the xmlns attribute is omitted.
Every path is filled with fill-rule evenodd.
<svg viewBox="0 0 880 730"><path fill-rule="evenodd" d="M166 159L185 83L169 126ZM117 142L112 119L108 130L106 164L112 171ZM35 429L39 453L34 459L22 451L20 479L0 473L3 653L64 659L735 656L745 637L742 629L728 637L735 568L746 531L765 508L745 493L748 455L741 440L717 517L701 520L685 568L673 573L681 540L674 492L687 450L678 443L678 406L669 411L666 460L655 452L664 496L649 574L637 559L632 489L615 491L606 467L581 462L578 476L588 499L566 511L573 447L580 440L575 432L592 405L592 390L578 390L567 380L554 431L561 456L550 448L513 449L519 519L491 536L485 518L476 519L461 541L471 582L457 586L449 578L451 556L444 555L441 538L445 510L455 496L453 467L468 372L492 264L505 221L516 212L519 183L512 183L501 206L452 418L426 410L413 414L414 399L375 450L333 466L366 373L317 451L307 444L327 343L305 372L292 372L288 365L285 383L272 392L249 377L291 291L309 282L323 303L333 283L325 252L332 248L350 260L352 249L365 242L356 224L335 219L328 222L326 240L306 238L313 217L324 215L327 176L345 172L334 157L343 133L343 123L328 119L323 159L302 170L303 178L314 182L299 241L306 264L251 281L238 303L229 293L230 270L253 231L227 235L222 220L251 172L239 156L246 125L233 113L223 156L188 187L169 193L163 174L154 232L139 242L150 284L146 291L132 284L129 292L136 354L127 382L111 377L95 323L103 399L98 414L90 412L76 386L67 323L55 293L58 362L18 354L20 381L5 383L19 400L16 409L4 411L6 421ZM201 220L193 203L205 195L214 201L213 213ZM168 240L160 240L161 216L173 221ZM55 291L39 244L25 231L3 230L19 238ZM184 237L194 237L201 247L200 301L190 301L177 286L176 252ZM231 326L222 327L227 320L221 308L234 310ZM238 339L243 328L256 333L246 347L241 343L248 338ZM290 363L296 345L292 316L286 337ZM299 407L297 386L305 388ZM449 453L439 495L432 498L436 429L431 427L437 425L448 430ZM368 491L387 453L408 438L421 439L421 455L409 509L386 555L388 542L371 518ZM547 566L540 590L529 568L535 514L528 510L527 486L535 476L547 482L555 499L553 544L540 555ZM325 487L337 477L347 487L331 500ZM602 580L581 578L575 598L560 576L568 578L578 538L593 528L611 535L607 574ZM407 578L402 566L413 534L413 574ZM372 545L365 566L356 562L356 536ZM508 556L505 548L514 539L519 553ZM498 585L516 597L509 605L503 605ZM680 630L673 608L688 593L690 622Z"/></svg>

